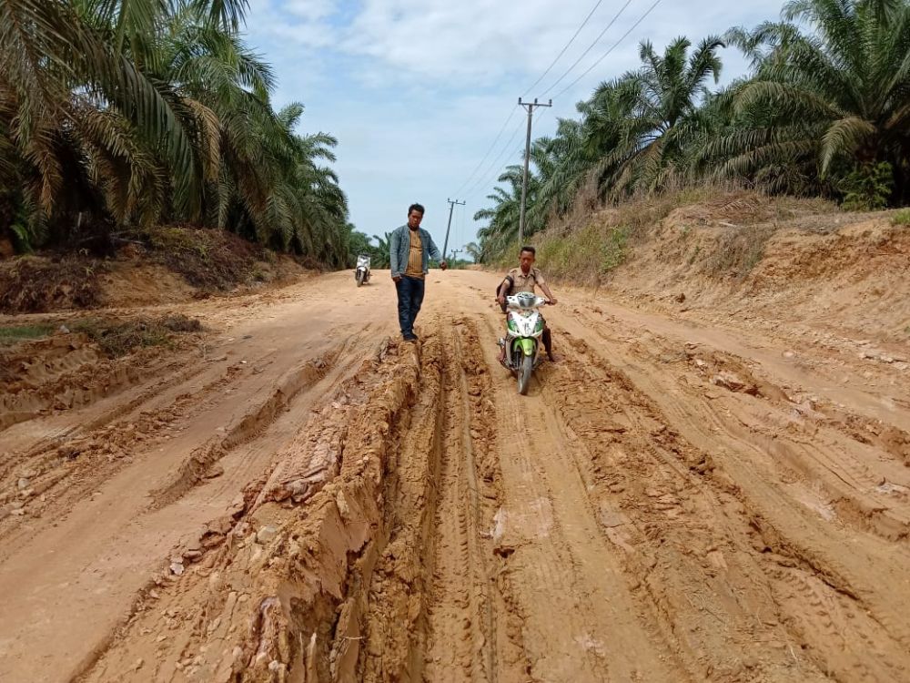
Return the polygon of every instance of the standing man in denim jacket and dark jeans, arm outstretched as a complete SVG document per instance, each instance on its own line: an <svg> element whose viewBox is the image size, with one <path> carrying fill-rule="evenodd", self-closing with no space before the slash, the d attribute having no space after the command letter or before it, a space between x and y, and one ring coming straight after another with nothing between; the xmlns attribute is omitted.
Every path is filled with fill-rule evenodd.
<svg viewBox="0 0 910 683"><path fill-rule="evenodd" d="M423 303L425 278L430 271L430 256L440 262L440 268L446 270L440 250L433 243L433 238L425 229L420 228L423 220L423 207L411 204L408 208L408 223L396 228L389 240L389 260L391 261L392 280L399 298L399 325L405 342L416 342L414 321Z"/></svg>

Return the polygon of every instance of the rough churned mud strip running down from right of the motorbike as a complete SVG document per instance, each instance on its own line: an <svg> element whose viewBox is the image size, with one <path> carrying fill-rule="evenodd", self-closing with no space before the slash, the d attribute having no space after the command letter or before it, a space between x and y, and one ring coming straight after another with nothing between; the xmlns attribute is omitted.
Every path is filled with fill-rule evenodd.
<svg viewBox="0 0 910 683"><path fill-rule="evenodd" d="M652 605L684 670L694 680L824 679L786 651L770 586L747 550L754 533L741 506L700 481L711 457L584 342L571 348L545 391L576 444L602 534L622 551L632 594Z"/></svg>

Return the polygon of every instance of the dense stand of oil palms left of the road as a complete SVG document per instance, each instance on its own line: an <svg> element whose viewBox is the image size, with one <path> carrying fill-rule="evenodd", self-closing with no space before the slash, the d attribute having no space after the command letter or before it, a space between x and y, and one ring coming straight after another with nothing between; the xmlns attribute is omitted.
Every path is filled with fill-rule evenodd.
<svg viewBox="0 0 910 683"><path fill-rule="evenodd" d="M27 251L156 224L340 267L335 138L298 135L245 0L0 0L0 239Z"/></svg>

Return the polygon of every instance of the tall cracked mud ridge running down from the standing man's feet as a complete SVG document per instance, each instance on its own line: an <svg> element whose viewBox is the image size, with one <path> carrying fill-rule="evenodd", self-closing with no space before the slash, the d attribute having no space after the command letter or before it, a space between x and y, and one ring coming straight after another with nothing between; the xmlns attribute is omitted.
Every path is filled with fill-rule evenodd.
<svg viewBox="0 0 910 683"><path fill-rule="evenodd" d="M423 348L434 353L429 341ZM116 641L86 680L114 671L129 679L132 651L144 652L165 679L184 671L208 680L316 680L356 668L360 606L379 539L388 533L380 523L383 473L394 425L415 401L420 374L412 345L385 346L377 360L364 362L266 480L248 487L233 515L201 535L200 545L217 550L163 589L154 610L137 612L128 638ZM159 632L164 605L171 606L165 619L175 637L151 642L143 626ZM134 672L133 679L149 675Z"/></svg>

